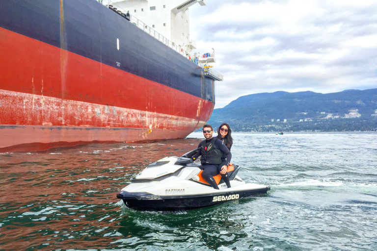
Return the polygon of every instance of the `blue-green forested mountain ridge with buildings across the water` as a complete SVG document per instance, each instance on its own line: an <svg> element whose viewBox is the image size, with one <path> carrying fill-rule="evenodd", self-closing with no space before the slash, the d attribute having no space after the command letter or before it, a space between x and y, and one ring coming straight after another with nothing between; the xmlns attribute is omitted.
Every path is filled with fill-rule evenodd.
<svg viewBox="0 0 377 251"><path fill-rule="evenodd" d="M234 131L377 130L377 89L242 96L215 109L209 124Z"/></svg>

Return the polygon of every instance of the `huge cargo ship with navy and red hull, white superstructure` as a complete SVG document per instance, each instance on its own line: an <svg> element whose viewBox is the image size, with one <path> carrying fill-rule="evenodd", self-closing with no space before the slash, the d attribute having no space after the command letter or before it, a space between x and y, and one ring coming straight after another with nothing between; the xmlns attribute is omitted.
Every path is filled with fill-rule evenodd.
<svg viewBox="0 0 377 251"><path fill-rule="evenodd" d="M185 138L215 106L205 0L0 2L0 151ZM135 14L139 14L136 16Z"/></svg>

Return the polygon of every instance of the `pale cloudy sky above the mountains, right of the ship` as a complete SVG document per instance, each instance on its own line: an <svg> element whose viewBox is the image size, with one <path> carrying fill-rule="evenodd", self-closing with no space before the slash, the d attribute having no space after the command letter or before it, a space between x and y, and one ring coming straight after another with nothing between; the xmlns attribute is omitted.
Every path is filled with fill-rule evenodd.
<svg viewBox="0 0 377 251"><path fill-rule="evenodd" d="M207 0L190 37L215 49L216 105L275 91L377 88L376 0Z"/></svg>

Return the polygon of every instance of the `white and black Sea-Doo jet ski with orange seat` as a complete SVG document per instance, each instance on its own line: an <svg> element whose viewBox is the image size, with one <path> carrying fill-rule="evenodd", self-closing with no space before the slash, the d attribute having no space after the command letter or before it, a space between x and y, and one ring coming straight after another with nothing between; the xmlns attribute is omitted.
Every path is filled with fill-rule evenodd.
<svg viewBox="0 0 377 251"><path fill-rule="evenodd" d="M124 204L141 211L184 211L245 197L266 194L270 187L245 183L239 176L240 166L228 166L231 187L221 175L214 176L219 190L214 189L201 176L201 166L191 157L196 149L181 157L170 156L148 165L131 184L116 195Z"/></svg>

